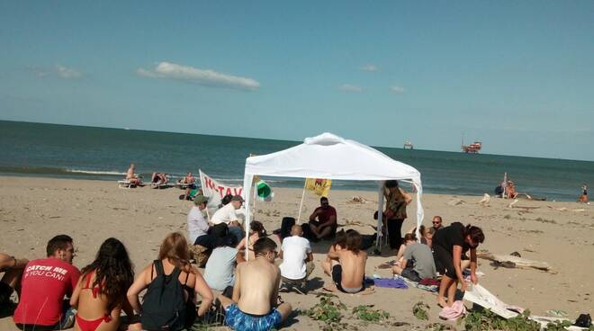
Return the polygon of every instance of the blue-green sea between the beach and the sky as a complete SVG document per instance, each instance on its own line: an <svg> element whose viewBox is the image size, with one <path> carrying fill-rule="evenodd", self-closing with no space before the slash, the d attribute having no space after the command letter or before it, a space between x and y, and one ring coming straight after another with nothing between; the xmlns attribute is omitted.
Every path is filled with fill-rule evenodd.
<svg viewBox="0 0 594 331"><path fill-rule="evenodd" d="M300 141L247 139L147 130L0 121L0 174L58 178L121 179L130 163L154 171L206 174L241 183L246 157L299 145ZM485 142L488 144L488 142ZM594 162L462 152L377 148L416 167L428 193L482 195L508 173L518 192L552 201L575 201L583 183L594 184ZM271 178L271 185L302 187L302 180ZM372 182L335 181L332 189L375 190Z"/></svg>

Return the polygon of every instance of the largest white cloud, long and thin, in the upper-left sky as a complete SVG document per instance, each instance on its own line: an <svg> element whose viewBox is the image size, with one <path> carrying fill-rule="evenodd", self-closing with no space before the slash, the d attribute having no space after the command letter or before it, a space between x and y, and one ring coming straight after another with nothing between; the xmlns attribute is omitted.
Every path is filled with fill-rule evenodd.
<svg viewBox="0 0 594 331"><path fill-rule="evenodd" d="M252 78L221 74L210 69L199 69L169 62L160 62L157 64L157 67L148 70L139 67L136 73L139 76L150 78L168 78L203 85L232 87L241 90L256 90L260 87L260 83Z"/></svg>

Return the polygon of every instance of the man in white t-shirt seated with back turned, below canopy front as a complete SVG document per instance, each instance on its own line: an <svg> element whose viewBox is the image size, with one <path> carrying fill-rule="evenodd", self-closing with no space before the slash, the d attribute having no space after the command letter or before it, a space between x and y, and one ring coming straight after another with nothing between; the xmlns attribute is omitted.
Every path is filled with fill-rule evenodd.
<svg viewBox="0 0 594 331"><path fill-rule="evenodd" d="M302 237L302 234L302 226L293 225L291 237L285 237L281 247L281 276L290 281L305 280L313 271L310 241Z"/></svg>

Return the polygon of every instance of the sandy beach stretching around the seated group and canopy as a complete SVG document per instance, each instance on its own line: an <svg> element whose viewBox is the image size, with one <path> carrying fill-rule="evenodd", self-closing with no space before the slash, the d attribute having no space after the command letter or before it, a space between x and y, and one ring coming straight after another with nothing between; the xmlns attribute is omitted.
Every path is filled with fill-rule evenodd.
<svg viewBox="0 0 594 331"><path fill-rule="evenodd" d="M265 224L268 232L280 227L284 216L296 217L302 191L273 188L273 202L257 201L254 217ZM186 213L191 201L180 201L181 191L170 188L152 190L149 187L119 189L116 183L27 177L0 177L0 251L31 259L45 255L50 237L68 234L75 240L77 256L74 264L81 268L92 261L94 254L107 237L117 237L130 251L139 272L157 255L163 237L172 231L185 232ZM318 197L305 194L302 219L318 206ZM364 202L353 202L353 196ZM482 197L425 194L422 202L428 225L434 215L441 215L447 225L459 220L482 227L486 240L480 250L508 255L517 251L522 257L551 264L553 272L535 269L495 268L487 260L479 259L479 271L484 273L481 284L500 300L545 316L549 309L565 311L570 318L594 307L594 209L577 202L518 201L509 207L508 200L491 198L489 206L478 202ZM372 214L377 206L375 192L331 191L330 204L338 211L338 223L355 228L364 234L374 233ZM457 203L454 203L457 200ZM414 225L415 206L408 210L410 219L403 229ZM329 282L320 267L328 244L312 245L316 269L311 278L311 290L320 291ZM371 253L371 252L370 252ZM384 249L383 255L371 255L366 273L391 276L389 269L377 266L393 260ZM371 295L339 294L349 307L373 304L384 309L394 321L410 323L411 327L425 327L437 322L437 296L428 291L376 289ZM294 309L309 309L319 301L314 294L283 293L285 301ZM412 306L424 301L430 306L429 321L419 321L412 314ZM360 322L354 322L356 323ZM305 315L293 318L286 329L319 329L317 321ZM362 328L362 327L360 327ZM370 330L379 326L365 327ZM460 328L460 327L459 327ZM1 330L16 330L12 318L0 319Z"/></svg>

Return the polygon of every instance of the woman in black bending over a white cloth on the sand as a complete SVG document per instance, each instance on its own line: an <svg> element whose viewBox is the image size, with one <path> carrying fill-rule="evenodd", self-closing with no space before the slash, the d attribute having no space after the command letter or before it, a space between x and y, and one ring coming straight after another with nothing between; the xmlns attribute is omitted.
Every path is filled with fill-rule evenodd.
<svg viewBox="0 0 594 331"><path fill-rule="evenodd" d="M476 248L484 242L482 229L471 226L464 227L460 222L454 222L449 227L442 228L433 237L433 257L437 272L443 275L439 286L437 304L441 307L452 307L458 282L462 283L460 291L466 291L464 282L462 255L470 250L471 281L479 282L476 276ZM447 302L445 299L447 291Z"/></svg>

